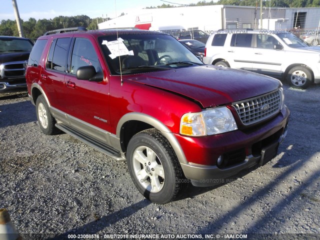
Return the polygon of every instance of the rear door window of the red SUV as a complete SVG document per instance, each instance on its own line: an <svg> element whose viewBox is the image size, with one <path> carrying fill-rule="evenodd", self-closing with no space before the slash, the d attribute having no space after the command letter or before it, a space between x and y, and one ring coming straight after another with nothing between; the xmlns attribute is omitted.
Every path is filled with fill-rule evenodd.
<svg viewBox="0 0 320 240"><path fill-rule="evenodd" d="M57 38L51 43L46 67L57 71L65 71L70 38Z"/></svg>

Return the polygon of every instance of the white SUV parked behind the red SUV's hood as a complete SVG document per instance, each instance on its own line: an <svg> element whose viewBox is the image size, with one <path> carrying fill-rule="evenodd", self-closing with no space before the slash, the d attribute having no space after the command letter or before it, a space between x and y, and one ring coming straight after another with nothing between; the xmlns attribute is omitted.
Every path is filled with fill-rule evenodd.
<svg viewBox="0 0 320 240"><path fill-rule="evenodd" d="M320 82L320 46L288 31L217 30L205 44L203 62L287 79L297 88Z"/></svg>

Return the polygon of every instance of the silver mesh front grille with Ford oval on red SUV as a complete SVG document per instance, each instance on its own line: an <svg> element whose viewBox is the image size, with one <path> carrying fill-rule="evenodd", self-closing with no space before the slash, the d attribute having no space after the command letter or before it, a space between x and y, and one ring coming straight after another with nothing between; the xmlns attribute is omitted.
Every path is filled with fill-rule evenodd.
<svg viewBox="0 0 320 240"><path fill-rule="evenodd" d="M232 103L243 125L250 125L262 121L276 114L281 107L281 91Z"/></svg>

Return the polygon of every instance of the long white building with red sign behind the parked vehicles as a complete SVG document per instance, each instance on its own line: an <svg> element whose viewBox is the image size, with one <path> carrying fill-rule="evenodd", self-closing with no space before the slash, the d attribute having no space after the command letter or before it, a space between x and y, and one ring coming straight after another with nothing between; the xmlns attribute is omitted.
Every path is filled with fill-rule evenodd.
<svg viewBox="0 0 320 240"><path fill-rule="evenodd" d="M262 28L287 30L294 27L316 29L320 7L262 8ZM99 29L137 27L157 30L172 26L206 32L220 28L260 28L260 8L253 6L210 5L140 9L98 24Z"/></svg>

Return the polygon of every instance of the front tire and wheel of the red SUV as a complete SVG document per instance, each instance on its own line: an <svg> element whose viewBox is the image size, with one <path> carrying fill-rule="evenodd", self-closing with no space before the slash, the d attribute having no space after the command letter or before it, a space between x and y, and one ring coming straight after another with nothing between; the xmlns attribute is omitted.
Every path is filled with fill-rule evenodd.
<svg viewBox="0 0 320 240"><path fill-rule="evenodd" d="M174 200L186 185L171 145L155 129L135 134L128 143L126 158L134 185L144 197L154 203L164 204ZM160 169L163 169L163 174ZM159 172L161 173L157 174Z"/></svg>

